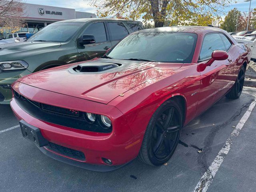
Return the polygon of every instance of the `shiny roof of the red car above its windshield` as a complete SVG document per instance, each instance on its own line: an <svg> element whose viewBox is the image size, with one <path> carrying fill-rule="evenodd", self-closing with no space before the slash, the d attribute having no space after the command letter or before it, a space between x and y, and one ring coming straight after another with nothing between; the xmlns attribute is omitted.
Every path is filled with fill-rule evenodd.
<svg viewBox="0 0 256 192"><path fill-rule="evenodd" d="M159 27L140 30L134 33L145 33L145 32L187 32L187 33L208 33L208 32L224 32L226 31L216 28L216 27L206 27L206 26L169 26L169 27Z"/></svg>

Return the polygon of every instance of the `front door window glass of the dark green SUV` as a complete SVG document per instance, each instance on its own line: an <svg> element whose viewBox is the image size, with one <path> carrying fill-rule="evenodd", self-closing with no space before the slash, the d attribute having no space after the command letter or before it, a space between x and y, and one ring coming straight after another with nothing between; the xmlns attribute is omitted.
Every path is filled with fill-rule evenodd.
<svg viewBox="0 0 256 192"><path fill-rule="evenodd" d="M104 42L107 40L106 30L103 22L91 24L84 32L83 35L94 35L96 43Z"/></svg>

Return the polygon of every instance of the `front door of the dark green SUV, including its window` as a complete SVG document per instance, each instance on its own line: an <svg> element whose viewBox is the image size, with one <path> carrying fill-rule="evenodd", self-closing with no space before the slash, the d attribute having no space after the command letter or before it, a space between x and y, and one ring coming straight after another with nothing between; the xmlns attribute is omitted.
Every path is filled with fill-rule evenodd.
<svg viewBox="0 0 256 192"><path fill-rule="evenodd" d="M105 22L94 22L90 24L78 38L85 34L94 35L96 42L87 45L80 45L77 43L79 61L103 56L106 50L112 47Z"/></svg>

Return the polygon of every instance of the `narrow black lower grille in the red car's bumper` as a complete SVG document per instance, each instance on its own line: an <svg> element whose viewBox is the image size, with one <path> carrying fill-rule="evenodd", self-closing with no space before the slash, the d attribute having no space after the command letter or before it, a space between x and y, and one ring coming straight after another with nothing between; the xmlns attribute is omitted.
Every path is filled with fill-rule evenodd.
<svg viewBox="0 0 256 192"><path fill-rule="evenodd" d="M66 148L64 146L60 146L54 143L49 142L48 146L46 146L47 149L56 152L58 154L62 154L64 156L68 156L73 159L85 161L84 153L81 151L77 151L74 149Z"/></svg>

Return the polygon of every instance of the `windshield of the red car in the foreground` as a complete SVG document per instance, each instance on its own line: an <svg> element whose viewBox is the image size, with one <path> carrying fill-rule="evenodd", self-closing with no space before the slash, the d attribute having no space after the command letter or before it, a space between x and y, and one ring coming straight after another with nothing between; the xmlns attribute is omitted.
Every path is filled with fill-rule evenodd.
<svg viewBox="0 0 256 192"><path fill-rule="evenodd" d="M115 59L141 59L158 62L190 63L197 35L183 32L131 34L108 53Z"/></svg>

